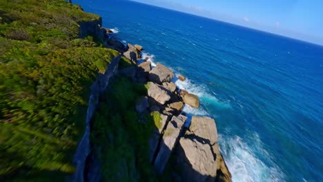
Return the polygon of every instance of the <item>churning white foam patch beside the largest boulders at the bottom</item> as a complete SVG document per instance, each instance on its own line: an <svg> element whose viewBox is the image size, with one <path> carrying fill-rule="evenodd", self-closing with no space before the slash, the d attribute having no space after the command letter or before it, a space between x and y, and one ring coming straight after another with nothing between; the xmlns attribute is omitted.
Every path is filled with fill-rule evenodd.
<svg viewBox="0 0 323 182"><path fill-rule="evenodd" d="M252 146L239 136L219 134L221 152L232 174L232 181L284 181L284 173L262 145L258 134L252 134ZM266 163L257 158L260 152Z"/></svg>

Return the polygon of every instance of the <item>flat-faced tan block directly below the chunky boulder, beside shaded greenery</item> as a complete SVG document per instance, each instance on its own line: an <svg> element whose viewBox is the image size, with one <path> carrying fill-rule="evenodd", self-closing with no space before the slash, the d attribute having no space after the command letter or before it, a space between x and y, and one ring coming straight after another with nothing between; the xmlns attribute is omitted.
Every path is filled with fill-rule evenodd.
<svg viewBox="0 0 323 182"><path fill-rule="evenodd" d="M161 85L157 85L153 82L148 83L148 96L155 99L158 103L164 104L166 101L169 101L170 94L171 93Z"/></svg>

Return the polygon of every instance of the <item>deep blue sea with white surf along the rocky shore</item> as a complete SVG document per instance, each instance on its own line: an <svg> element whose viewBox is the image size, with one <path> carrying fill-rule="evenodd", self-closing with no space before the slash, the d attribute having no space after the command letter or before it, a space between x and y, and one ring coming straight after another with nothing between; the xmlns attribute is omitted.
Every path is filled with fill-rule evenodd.
<svg viewBox="0 0 323 182"><path fill-rule="evenodd" d="M323 181L323 47L131 1L74 0L183 74L233 181Z"/></svg>

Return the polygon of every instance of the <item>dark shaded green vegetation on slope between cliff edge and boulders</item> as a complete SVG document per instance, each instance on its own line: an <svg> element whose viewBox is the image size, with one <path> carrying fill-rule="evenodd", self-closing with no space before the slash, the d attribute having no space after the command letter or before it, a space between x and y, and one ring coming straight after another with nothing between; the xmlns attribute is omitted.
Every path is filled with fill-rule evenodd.
<svg viewBox="0 0 323 182"><path fill-rule="evenodd" d="M156 179L148 159L148 141L161 117L158 112L139 116L135 111L137 99L146 92L144 84L119 77L100 98L91 141L95 155L103 161L104 181Z"/></svg>

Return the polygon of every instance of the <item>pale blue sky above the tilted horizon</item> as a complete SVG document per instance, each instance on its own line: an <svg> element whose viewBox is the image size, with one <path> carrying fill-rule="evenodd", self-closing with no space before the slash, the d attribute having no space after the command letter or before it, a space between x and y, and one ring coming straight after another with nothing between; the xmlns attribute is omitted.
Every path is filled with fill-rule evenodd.
<svg viewBox="0 0 323 182"><path fill-rule="evenodd" d="M133 0L323 45L323 0Z"/></svg>

